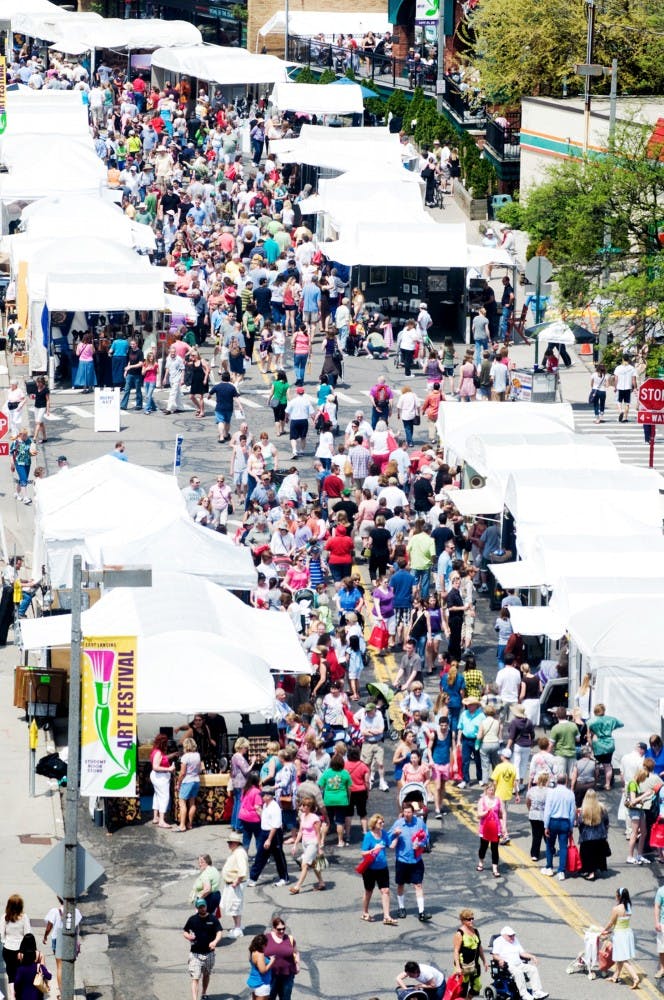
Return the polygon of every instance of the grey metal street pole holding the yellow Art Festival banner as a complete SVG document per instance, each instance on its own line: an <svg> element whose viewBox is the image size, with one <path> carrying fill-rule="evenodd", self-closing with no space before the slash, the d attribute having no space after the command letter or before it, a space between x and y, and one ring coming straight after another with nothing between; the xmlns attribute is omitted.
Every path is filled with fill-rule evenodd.
<svg viewBox="0 0 664 1000"><path fill-rule="evenodd" d="M152 570L134 568L86 573L86 581L107 587L151 587ZM64 914L62 920L62 1000L74 1000L76 962L76 883L78 849L78 790L81 753L81 610L83 570L74 556L71 601L71 657L69 666L68 760L65 790Z"/></svg>

